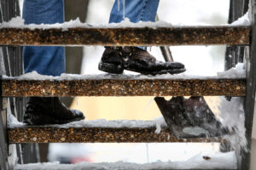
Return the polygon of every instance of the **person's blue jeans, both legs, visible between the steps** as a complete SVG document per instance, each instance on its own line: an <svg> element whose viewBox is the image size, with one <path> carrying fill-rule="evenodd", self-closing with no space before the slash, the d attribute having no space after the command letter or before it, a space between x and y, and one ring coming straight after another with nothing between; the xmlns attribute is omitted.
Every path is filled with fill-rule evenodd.
<svg viewBox="0 0 256 170"><path fill-rule="evenodd" d="M109 22L124 20L123 0L115 0ZM131 22L154 21L159 0L125 0L125 17ZM64 20L63 0L25 0L25 24L54 24ZM24 71L38 71L42 75L60 76L65 72L63 47L26 46L23 51Z"/></svg>

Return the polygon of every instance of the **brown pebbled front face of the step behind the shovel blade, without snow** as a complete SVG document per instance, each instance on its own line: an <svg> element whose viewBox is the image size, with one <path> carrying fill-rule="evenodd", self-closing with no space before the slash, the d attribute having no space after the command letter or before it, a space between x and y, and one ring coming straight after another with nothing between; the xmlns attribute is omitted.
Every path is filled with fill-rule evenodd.
<svg viewBox="0 0 256 170"><path fill-rule="evenodd" d="M224 139L195 138L177 139L162 128L155 127L103 128L103 127L14 127L8 129L9 143L154 143L154 142L226 142Z"/></svg>

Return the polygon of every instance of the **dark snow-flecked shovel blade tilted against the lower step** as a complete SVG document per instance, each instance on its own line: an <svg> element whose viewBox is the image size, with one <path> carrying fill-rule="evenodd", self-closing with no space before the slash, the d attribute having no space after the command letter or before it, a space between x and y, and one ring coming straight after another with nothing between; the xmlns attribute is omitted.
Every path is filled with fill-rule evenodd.
<svg viewBox="0 0 256 170"><path fill-rule="evenodd" d="M227 133L227 129L215 118L203 97L155 97L167 126L177 138L216 137Z"/></svg>

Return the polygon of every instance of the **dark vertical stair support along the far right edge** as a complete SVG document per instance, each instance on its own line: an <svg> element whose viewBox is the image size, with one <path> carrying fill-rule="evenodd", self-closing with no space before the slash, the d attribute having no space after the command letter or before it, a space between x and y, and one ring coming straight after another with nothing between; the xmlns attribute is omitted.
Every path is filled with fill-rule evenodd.
<svg viewBox="0 0 256 170"><path fill-rule="evenodd" d="M247 148L251 150L252 128L253 128L253 111L255 102L256 88L256 0L252 0L252 42L250 46L250 56L247 58L247 96L245 104L245 127ZM250 168L250 152L245 150L241 153L241 169Z"/></svg>

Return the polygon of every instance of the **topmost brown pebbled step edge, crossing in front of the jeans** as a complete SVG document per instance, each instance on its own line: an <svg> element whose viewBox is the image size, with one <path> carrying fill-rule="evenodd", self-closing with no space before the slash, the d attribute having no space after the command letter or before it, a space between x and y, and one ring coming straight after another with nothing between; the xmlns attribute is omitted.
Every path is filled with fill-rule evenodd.
<svg viewBox="0 0 256 170"><path fill-rule="evenodd" d="M249 45L250 26L0 28L1 45Z"/></svg>

